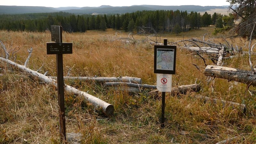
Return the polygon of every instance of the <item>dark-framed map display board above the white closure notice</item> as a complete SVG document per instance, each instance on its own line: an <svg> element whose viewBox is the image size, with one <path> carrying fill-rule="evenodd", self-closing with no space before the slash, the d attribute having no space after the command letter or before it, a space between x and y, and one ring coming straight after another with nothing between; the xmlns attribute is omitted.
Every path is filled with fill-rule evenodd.
<svg viewBox="0 0 256 144"><path fill-rule="evenodd" d="M155 45L154 49L154 73L175 74L176 46Z"/></svg>

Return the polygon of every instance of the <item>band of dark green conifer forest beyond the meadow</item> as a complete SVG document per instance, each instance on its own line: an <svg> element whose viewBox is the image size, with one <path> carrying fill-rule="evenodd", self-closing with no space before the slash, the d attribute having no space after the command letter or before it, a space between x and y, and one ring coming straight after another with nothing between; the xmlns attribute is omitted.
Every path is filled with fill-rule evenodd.
<svg viewBox="0 0 256 144"><path fill-rule="evenodd" d="M125 14L75 15L67 12L31 13L0 15L0 29L12 31L50 30L51 25L60 25L64 31L85 32L86 30L116 30L139 32L143 28L146 32L175 32L189 31L210 25L222 28L232 25L233 16L223 16L214 13L212 16L205 12L172 11L137 11ZM218 21L219 20L219 21Z"/></svg>

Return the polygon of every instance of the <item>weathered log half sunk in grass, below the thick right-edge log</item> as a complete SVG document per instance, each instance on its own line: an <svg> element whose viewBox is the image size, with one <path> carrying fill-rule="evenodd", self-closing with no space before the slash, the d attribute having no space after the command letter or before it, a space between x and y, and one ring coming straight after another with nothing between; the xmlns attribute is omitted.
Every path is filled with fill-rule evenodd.
<svg viewBox="0 0 256 144"><path fill-rule="evenodd" d="M206 97L206 96L202 96L202 95L195 95L194 97L195 98L200 98L201 100L205 100L205 102L212 101L214 104L217 104L218 101L221 101L223 108L225 106L231 106L232 108L239 108L243 113L246 112L246 105L245 104L240 104L240 103L226 101L226 100L212 99L210 97Z"/></svg>

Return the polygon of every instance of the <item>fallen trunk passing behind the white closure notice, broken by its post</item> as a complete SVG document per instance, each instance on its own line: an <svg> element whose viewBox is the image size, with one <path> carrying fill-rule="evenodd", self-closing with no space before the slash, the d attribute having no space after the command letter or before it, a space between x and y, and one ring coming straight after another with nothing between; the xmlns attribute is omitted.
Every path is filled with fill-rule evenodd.
<svg viewBox="0 0 256 144"><path fill-rule="evenodd" d="M128 92L140 92L140 89L156 89L156 85L148 85L148 84L132 84L132 83L122 83L122 82L116 82L116 83L105 83L105 87L115 87L115 90L122 90L122 91L128 91ZM128 87L126 89L120 89L120 86ZM130 89L132 88L132 89ZM138 88L138 89L134 89ZM130 90L129 90L130 89ZM188 91L198 92L200 91L201 87L199 84L189 84L189 85L181 85L178 87L172 87L172 93L181 93L185 94ZM152 91L150 93L158 93L158 90ZM149 93L149 94L150 94Z"/></svg>

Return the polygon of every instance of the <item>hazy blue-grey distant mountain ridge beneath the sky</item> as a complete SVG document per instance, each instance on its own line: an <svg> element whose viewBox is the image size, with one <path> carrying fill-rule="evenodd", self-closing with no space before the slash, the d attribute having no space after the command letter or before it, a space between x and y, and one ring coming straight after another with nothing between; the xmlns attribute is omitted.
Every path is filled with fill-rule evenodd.
<svg viewBox="0 0 256 144"><path fill-rule="evenodd" d="M126 13L143 10L180 10L187 12L205 12L211 9L227 9L226 6L199 6L199 5L180 5L180 6L163 6L163 5L132 5L132 6L110 6L101 5L99 7L43 7L43 6L6 6L0 5L0 14L24 14L24 13L48 13L48 12L69 12L75 14L110 14Z"/></svg>

